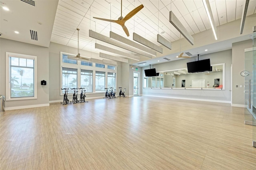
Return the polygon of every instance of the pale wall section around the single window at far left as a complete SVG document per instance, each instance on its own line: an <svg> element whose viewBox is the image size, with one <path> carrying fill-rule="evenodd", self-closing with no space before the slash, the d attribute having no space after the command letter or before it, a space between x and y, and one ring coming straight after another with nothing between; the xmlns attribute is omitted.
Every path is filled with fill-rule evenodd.
<svg viewBox="0 0 256 170"><path fill-rule="evenodd" d="M6 52L37 56L37 99L6 101L6 110L49 105L49 50L46 47L0 38L0 94L6 96ZM41 80L47 85L41 86Z"/></svg>

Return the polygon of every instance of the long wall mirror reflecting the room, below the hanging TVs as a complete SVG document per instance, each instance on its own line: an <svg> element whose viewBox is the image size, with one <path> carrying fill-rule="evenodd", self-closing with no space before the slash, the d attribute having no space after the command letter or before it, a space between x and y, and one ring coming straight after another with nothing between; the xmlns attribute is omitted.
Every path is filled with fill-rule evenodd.
<svg viewBox="0 0 256 170"><path fill-rule="evenodd" d="M144 88L212 88L224 89L225 64L213 64L208 72L188 73L188 69L160 72L156 77L144 76Z"/></svg>

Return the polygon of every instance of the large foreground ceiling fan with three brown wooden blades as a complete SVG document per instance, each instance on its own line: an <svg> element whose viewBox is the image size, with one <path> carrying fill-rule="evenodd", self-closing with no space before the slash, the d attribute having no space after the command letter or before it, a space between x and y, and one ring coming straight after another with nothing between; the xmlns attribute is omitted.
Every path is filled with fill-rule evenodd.
<svg viewBox="0 0 256 170"><path fill-rule="evenodd" d="M103 20L103 21L108 21L108 22L115 22L117 24L119 24L120 26L122 26L124 32L126 33L127 36L129 35L128 29L127 27L124 25L124 23L129 20L130 18L132 18L137 12L139 12L144 6L141 4L140 6L138 6L137 8L135 8L134 10L132 10L131 12L129 12L125 17L122 16L122 0L121 0L121 16L118 18L118 20L109 20L109 19L104 19L104 18L97 18L97 17L93 17L95 19L98 20Z"/></svg>

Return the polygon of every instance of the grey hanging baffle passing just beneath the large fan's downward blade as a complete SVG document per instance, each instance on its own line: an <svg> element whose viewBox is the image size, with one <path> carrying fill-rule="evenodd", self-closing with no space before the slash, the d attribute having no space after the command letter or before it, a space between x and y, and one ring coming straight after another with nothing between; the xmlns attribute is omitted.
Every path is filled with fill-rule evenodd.
<svg viewBox="0 0 256 170"><path fill-rule="evenodd" d="M153 56L156 56L156 52L155 52L155 51L150 50L149 48L146 48L146 47L144 47L144 46L142 46L142 45L140 45L140 44L138 44L138 43L136 43L136 42L133 42L132 40L129 40L129 39L127 39L127 38L124 38L124 37L122 37L122 36L120 36L120 35L118 35L118 34L112 32L112 31L110 31L110 38L111 38L111 39L114 39L114 40L116 40L116 41L122 42L122 43L124 43L124 44L126 44L126 45L128 45L128 46L133 47L133 48L138 49L138 50L136 51L136 53L138 53L138 54L141 54L141 52L144 52L144 53L141 54L141 55L147 56L147 57L149 57L149 58L152 58L152 55L153 55ZM126 46L126 48L127 48L127 46ZM131 51L131 50L130 50L130 51ZM135 52L135 51L133 51L133 52Z"/></svg>

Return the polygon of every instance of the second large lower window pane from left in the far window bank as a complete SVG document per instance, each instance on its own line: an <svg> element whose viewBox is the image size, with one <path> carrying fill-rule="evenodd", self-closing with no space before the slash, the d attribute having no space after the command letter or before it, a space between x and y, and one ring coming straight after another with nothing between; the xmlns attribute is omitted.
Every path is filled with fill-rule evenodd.
<svg viewBox="0 0 256 170"><path fill-rule="evenodd" d="M81 69L81 87L85 88L86 92L92 92L92 71Z"/></svg>

